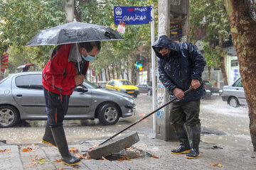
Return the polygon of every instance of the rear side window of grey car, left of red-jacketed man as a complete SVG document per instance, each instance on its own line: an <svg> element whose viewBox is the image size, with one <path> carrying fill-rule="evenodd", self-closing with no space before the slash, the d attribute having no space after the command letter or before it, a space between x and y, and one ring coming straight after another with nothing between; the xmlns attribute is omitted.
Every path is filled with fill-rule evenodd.
<svg viewBox="0 0 256 170"><path fill-rule="evenodd" d="M16 86L25 89L43 89L41 74L28 74L16 77Z"/></svg>

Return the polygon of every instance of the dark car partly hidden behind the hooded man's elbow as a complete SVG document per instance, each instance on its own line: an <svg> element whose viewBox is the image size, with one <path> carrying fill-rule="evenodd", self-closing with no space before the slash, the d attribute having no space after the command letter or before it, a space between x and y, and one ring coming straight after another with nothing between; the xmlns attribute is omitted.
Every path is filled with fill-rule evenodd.
<svg viewBox="0 0 256 170"><path fill-rule="evenodd" d="M223 93L223 90L214 87L209 81L203 80L203 84L206 88L206 95L202 98L218 98Z"/></svg>

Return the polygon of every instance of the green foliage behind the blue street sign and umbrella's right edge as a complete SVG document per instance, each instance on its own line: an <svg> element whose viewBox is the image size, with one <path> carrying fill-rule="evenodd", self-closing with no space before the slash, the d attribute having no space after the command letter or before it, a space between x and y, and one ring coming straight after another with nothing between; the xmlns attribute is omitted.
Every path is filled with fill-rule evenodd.
<svg viewBox="0 0 256 170"><path fill-rule="evenodd" d="M78 1L76 2L78 3ZM157 6L157 2L155 0L79 1L79 7L77 9L82 13L82 22L110 26L116 30L117 25L114 25L114 6L150 6L151 4ZM122 62L122 67L132 69L134 67L134 60L136 59L133 54L138 51L138 47L144 45L144 49L151 49L150 31L149 24L126 25L125 33L121 34L124 40L102 43L100 55L97 55L97 60L90 63L91 68L94 68L96 74L99 74L101 68L110 65L114 67ZM150 55L150 50L148 55Z"/></svg>

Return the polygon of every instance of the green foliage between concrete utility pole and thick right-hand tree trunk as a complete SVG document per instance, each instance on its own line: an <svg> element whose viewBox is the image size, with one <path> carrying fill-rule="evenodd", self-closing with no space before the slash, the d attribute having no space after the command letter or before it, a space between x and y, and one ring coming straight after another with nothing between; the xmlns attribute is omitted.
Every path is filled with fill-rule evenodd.
<svg viewBox="0 0 256 170"><path fill-rule="evenodd" d="M222 44L230 37L228 17L223 0L192 0L190 1L190 33L191 42L198 40L198 30L203 29L206 37L203 42L207 64L220 67L223 57Z"/></svg>

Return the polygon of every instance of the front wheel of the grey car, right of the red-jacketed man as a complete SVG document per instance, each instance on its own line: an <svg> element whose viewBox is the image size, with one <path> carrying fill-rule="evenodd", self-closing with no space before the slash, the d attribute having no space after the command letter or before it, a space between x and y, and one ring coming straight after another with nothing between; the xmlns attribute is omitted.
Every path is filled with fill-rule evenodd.
<svg viewBox="0 0 256 170"><path fill-rule="evenodd" d="M102 125L114 125L119 120L119 108L114 103L106 103L100 108L98 118Z"/></svg>

